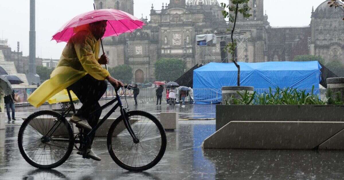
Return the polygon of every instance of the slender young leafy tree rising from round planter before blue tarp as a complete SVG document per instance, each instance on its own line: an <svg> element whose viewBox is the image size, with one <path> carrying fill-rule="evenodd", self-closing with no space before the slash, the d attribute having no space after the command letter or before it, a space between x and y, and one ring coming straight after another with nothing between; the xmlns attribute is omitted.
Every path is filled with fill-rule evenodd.
<svg viewBox="0 0 344 180"><path fill-rule="evenodd" d="M235 66L238 68L238 80L237 80L238 86L240 86L240 65L237 63L237 58L235 57L235 50L236 50L237 43L233 39L233 35L235 31L235 25L236 25L238 13L242 14L244 18L249 18L250 16L252 16L252 14L248 13L249 10L251 9L247 5L248 1L249 0L230 0L232 5L221 3L221 6L224 8L224 10L222 11L222 15L224 16L224 18L228 18L229 21L233 23L233 28L231 32L232 43L228 43L226 49L228 50L229 53L232 53L232 61L234 62ZM229 30L230 29L227 29L227 31Z"/></svg>

